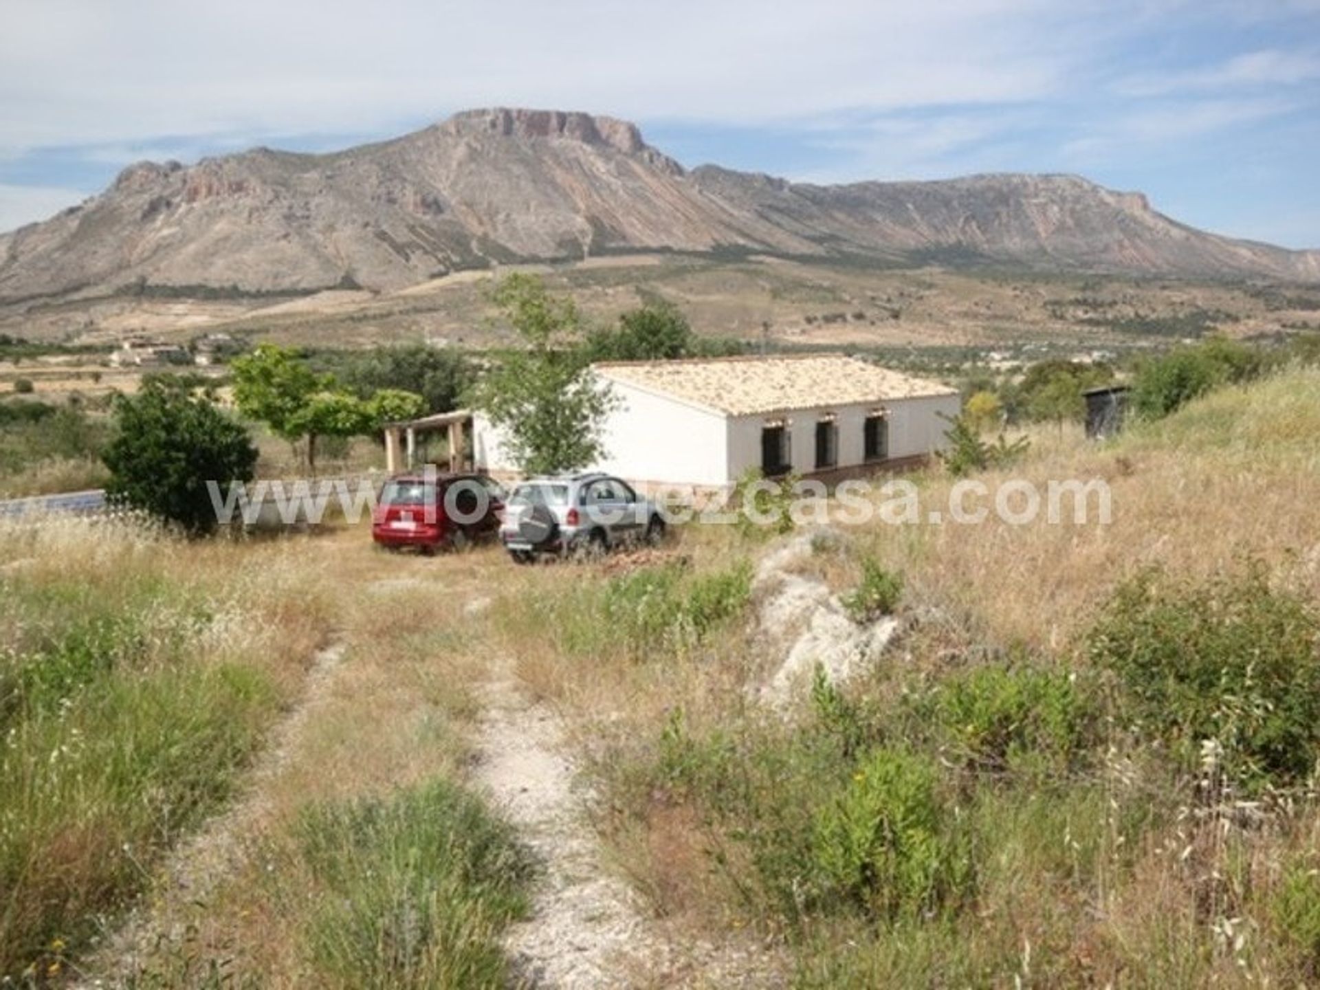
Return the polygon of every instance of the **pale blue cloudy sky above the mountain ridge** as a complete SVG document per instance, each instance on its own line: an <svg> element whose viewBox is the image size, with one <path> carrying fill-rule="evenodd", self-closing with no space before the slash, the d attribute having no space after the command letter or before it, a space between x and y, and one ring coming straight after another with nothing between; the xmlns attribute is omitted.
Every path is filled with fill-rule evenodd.
<svg viewBox="0 0 1320 990"><path fill-rule="evenodd" d="M812 182L1067 172L1320 248L1320 0L0 0L0 231L473 107Z"/></svg>

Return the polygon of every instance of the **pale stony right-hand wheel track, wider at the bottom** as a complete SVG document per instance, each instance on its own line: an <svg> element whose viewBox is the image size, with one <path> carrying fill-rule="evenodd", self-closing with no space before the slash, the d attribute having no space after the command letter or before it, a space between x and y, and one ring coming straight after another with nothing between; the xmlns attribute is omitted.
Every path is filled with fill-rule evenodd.
<svg viewBox="0 0 1320 990"><path fill-rule="evenodd" d="M685 939L648 917L627 883L603 861L587 821L558 717L531 701L508 669L484 692L477 738L477 783L540 857L544 873L532 916L512 927L506 948L516 977L532 987L775 986L768 960L733 946Z"/></svg>

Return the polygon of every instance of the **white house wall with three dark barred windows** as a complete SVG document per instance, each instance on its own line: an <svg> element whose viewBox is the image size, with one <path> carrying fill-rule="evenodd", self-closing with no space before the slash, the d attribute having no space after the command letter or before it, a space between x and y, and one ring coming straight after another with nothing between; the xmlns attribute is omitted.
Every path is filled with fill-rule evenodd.
<svg viewBox="0 0 1320 990"><path fill-rule="evenodd" d="M797 409L791 413L741 416L729 421L729 478L737 479L748 469L760 467L760 432L767 420L785 420L791 434L789 453L795 474L816 470L816 422L822 413L834 413L838 428L836 467L863 463L863 429L867 413L876 405L890 411L890 459L919 457L946 446L948 424L939 413L957 416L961 400L956 395L921 399L887 399L866 405L841 405L829 409Z"/></svg>

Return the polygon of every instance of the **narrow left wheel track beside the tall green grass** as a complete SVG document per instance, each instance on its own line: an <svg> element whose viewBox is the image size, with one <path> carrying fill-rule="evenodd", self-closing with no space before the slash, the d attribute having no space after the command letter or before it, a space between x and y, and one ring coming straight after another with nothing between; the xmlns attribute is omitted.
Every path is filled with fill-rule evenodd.
<svg viewBox="0 0 1320 990"><path fill-rule="evenodd" d="M238 873L249 854L249 841L269 813L268 792L288 767L298 742L329 693L345 655L341 642L319 649L308 672L304 700L280 722L243 792L226 812L211 818L191 840L180 845L161 867L161 880L150 891L153 903L141 903L106 944L82 965L78 990L123 986L149 958L187 936L186 906L205 904L219 884Z"/></svg>

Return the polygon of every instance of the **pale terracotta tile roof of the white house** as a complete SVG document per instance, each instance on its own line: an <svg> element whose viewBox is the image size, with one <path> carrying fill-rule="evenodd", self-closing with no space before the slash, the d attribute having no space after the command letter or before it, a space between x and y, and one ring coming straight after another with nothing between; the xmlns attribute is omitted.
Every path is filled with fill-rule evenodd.
<svg viewBox="0 0 1320 990"><path fill-rule="evenodd" d="M957 391L842 354L603 362L591 367L606 379L730 416L954 395Z"/></svg>

